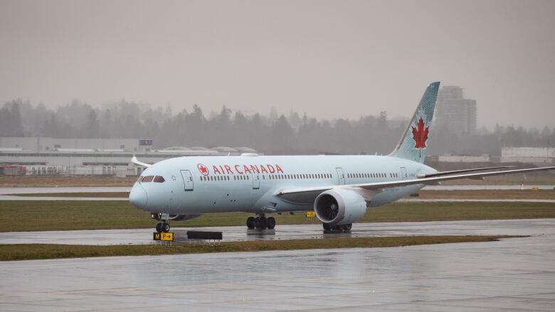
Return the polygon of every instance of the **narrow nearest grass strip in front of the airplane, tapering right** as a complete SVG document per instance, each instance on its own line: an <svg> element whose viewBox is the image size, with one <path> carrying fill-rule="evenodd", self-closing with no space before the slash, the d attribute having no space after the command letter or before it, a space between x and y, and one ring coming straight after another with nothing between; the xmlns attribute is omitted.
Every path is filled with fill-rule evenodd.
<svg viewBox="0 0 555 312"><path fill-rule="evenodd" d="M401 247L419 244L492 242L507 235L354 237L318 240L267 240L208 244L163 244L88 246L68 244L0 244L0 261L62 259L83 257L144 256L162 254L199 254L208 252L258 252L269 250Z"/></svg>

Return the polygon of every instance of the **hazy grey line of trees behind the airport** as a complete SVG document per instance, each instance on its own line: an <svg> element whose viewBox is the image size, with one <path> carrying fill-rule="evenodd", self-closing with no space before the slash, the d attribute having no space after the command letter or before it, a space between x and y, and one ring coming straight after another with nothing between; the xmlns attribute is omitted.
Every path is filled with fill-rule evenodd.
<svg viewBox="0 0 555 312"><path fill-rule="evenodd" d="M173 112L171 107L120 102L92 107L74 100L56 109L16 99L0 109L0 136L56 138L153 139L155 149L168 146L247 146L265 154L388 154L407 120L390 120L386 112L359 119L316 119L307 114L243 114L223 106L206 116L201 107ZM555 128L482 128L475 134L430 130L428 155L499 155L502 146L555 146Z"/></svg>

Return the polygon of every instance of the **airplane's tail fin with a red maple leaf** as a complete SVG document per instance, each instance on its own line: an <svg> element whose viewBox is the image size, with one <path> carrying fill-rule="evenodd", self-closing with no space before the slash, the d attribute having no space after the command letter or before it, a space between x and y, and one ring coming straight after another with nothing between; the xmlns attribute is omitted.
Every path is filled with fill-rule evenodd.
<svg viewBox="0 0 555 312"><path fill-rule="evenodd" d="M414 112L411 123L406 127L405 133L397 147L389 156L410 159L423 163L426 158L426 144L428 131L433 119L435 99L438 98L439 82L432 82L426 88L420 104Z"/></svg>

